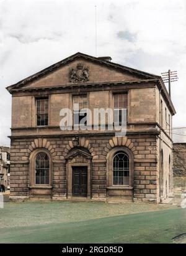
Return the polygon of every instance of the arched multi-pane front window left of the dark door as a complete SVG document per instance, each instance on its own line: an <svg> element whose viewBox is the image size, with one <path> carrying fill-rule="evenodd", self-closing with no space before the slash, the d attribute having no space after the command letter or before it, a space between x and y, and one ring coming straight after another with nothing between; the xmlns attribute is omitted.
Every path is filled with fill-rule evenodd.
<svg viewBox="0 0 186 256"><path fill-rule="evenodd" d="M35 184L36 185L49 185L49 163L48 155L40 152L35 157Z"/></svg>

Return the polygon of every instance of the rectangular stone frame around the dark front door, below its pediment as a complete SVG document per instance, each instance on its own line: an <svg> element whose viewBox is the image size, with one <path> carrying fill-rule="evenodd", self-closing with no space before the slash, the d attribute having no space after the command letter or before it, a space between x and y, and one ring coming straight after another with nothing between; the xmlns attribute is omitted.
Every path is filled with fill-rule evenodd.
<svg viewBox="0 0 186 256"><path fill-rule="evenodd" d="M67 198L68 199L76 199L77 196L73 196L73 167L87 167L87 198L91 199L91 161L87 160L89 163L67 163Z"/></svg>

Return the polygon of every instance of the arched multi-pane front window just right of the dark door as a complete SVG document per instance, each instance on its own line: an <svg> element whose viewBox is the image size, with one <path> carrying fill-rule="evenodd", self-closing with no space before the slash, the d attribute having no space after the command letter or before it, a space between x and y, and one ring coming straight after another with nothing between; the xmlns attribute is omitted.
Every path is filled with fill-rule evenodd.
<svg viewBox="0 0 186 256"><path fill-rule="evenodd" d="M113 158L113 185L129 185L129 158L122 151Z"/></svg>

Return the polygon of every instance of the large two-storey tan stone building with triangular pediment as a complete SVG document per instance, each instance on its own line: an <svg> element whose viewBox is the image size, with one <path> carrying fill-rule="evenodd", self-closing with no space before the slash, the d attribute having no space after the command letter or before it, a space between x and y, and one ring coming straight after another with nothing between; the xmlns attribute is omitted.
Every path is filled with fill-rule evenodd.
<svg viewBox="0 0 186 256"><path fill-rule="evenodd" d="M7 87L12 94L11 198L151 201L172 194L172 116L162 78L77 53ZM74 110L79 103L79 110ZM61 130L61 110L111 108L126 135ZM67 120L68 121L68 120ZM92 127L92 126L91 126Z"/></svg>

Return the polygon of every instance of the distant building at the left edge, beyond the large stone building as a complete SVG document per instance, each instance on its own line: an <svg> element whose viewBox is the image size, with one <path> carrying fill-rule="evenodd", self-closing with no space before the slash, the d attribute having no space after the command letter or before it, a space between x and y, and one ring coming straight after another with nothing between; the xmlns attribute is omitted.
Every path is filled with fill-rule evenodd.
<svg viewBox="0 0 186 256"><path fill-rule="evenodd" d="M10 189L10 148L0 146L0 185Z"/></svg>

